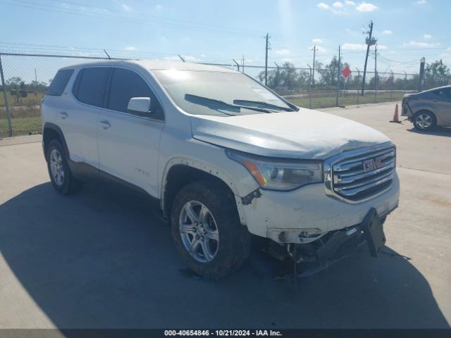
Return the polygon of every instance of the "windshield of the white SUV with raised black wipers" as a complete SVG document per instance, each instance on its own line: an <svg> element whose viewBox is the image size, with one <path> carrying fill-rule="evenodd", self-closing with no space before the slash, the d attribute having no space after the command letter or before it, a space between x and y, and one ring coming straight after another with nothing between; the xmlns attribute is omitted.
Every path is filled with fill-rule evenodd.
<svg viewBox="0 0 451 338"><path fill-rule="evenodd" d="M156 70L154 75L175 104L190 114L233 116L294 111L259 82L240 73Z"/></svg>

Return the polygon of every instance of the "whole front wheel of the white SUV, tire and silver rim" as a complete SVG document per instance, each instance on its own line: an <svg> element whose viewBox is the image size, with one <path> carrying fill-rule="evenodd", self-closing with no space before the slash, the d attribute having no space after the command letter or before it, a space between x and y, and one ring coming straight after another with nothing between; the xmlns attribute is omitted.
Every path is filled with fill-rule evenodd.
<svg viewBox="0 0 451 338"><path fill-rule="evenodd" d="M251 235L240 223L232 192L215 181L192 182L180 189L171 211L171 231L180 256L207 280L233 273L251 249Z"/></svg>

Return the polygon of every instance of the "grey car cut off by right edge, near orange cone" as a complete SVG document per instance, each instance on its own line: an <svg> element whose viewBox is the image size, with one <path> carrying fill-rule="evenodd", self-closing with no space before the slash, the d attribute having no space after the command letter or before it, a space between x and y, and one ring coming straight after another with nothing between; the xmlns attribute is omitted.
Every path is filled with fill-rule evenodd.
<svg viewBox="0 0 451 338"><path fill-rule="evenodd" d="M407 116L417 130L451 125L451 86L405 94L401 115Z"/></svg>

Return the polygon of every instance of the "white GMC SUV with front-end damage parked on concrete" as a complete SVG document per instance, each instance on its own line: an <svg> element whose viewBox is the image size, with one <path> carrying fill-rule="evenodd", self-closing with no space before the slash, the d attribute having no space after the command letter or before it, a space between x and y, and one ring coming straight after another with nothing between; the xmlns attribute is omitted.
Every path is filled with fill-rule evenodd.
<svg viewBox="0 0 451 338"><path fill-rule="evenodd" d="M365 241L377 256L398 205L390 139L227 68L63 68L42 101L42 126L58 192L109 177L159 199L178 251L206 278L239 268L251 234L296 263L327 265Z"/></svg>

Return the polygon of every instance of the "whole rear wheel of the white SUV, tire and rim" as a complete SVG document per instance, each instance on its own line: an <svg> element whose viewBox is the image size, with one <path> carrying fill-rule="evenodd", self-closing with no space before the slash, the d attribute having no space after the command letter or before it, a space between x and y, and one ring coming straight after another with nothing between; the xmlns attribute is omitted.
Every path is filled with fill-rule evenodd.
<svg viewBox="0 0 451 338"><path fill-rule="evenodd" d="M51 184L57 192L63 195L75 194L82 188L82 183L73 177L68 165L68 157L63 145L57 139L52 139L47 146L47 169Z"/></svg>

